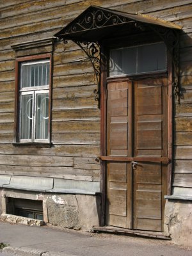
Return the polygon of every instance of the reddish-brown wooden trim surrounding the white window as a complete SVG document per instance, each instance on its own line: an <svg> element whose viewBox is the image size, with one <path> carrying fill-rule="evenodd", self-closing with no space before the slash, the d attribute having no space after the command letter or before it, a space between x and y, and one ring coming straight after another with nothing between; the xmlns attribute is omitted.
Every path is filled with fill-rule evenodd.
<svg viewBox="0 0 192 256"><path fill-rule="evenodd" d="M20 64L24 61L44 60L50 61L49 70L49 123L48 123L48 140L47 142L20 142L19 141L19 88L20 88ZM52 54L38 54L33 56L19 57L15 60L15 125L13 145L49 145L51 146L51 97L52 97Z"/></svg>

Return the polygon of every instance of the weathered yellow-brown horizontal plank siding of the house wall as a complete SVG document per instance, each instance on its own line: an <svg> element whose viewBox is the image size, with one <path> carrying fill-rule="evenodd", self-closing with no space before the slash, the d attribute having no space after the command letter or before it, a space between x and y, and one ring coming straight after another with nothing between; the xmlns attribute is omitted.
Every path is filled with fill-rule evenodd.
<svg viewBox="0 0 192 256"><path fill-rule="evenodd" d="M76 44L54 45L51 148L14 147L15 52L10 45L49 38L90 4L144 13L183 26L180 36L181 104L173 106L173 186L192 188L191 0L1 0L0 3L0 173L99 180L100 111L95 77ZM50 15L51 14L51 15ZM40 52L41 51L41 52ZM44 53L28 49L17 56ZM18 55L19 54L19 55ZM21 157L22 156L22 157ZM24 156L24 157L23 157ZM36 160L34 160L36 159ZM25 165L25 161L28 166Z"/></svg>

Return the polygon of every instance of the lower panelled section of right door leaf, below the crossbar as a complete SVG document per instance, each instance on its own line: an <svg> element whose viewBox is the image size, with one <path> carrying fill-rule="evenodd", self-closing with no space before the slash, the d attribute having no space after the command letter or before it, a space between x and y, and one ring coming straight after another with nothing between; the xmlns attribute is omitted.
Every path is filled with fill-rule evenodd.
<svg viewBox="0 0 192 256"><path fill-rule="evenodd" d="M134 170L134 229L162 230L161 176L161 163L139 163Z"/></svg>

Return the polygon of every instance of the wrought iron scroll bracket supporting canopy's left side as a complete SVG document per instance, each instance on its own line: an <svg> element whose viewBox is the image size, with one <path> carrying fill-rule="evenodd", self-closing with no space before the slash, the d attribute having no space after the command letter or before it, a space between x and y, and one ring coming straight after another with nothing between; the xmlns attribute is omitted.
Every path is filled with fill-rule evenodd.
<svg viewBox="0 0 192 256"><path fill-rule="evenodd" d="M67 40L64 40L63 42L64 44L67 44ZM77 40L73 40L73 42L86 53L86 56L88 56L92 63L97 81L97 88L93 90L93 93L95 93L95 100L98 101L98 107L100 108L100 45L98 42L81 42Z"/></svg>

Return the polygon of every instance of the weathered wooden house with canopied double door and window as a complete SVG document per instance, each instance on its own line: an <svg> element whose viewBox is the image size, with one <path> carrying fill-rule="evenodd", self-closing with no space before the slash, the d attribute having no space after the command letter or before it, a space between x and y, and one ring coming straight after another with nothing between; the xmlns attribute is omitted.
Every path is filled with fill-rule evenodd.
<svg viewBox="0 0 192 256"><path fill-rule="evenodd" d="M190 245L191 13L191 0L1 0L2 220Z"/></svg>

